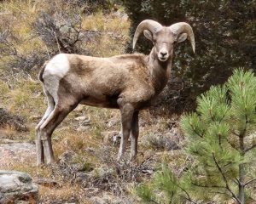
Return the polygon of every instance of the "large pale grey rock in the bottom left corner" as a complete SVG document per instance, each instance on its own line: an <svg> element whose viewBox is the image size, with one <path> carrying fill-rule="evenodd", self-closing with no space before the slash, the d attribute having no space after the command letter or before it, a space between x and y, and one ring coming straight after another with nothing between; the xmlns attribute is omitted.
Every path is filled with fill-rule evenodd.
<svg viewBox="0 0 256 204"><path fill-rule="evenodd" d="M0 203L36 203L37 198L38 185L32 183L27 173L0 170Z"/></svg>

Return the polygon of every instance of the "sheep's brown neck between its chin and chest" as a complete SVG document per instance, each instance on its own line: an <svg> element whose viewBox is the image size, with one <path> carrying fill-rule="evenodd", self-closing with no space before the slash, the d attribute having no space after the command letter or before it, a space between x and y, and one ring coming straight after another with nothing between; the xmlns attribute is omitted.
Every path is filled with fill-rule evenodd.
<svg viewBox="0 0 256 204"><path fill-rule="evenodd" d="M154 52L154 48L148 56L149 71L154 86L155 94L160 94L161 90L166 86L171 75L172 59L161 62Z"/></svg>

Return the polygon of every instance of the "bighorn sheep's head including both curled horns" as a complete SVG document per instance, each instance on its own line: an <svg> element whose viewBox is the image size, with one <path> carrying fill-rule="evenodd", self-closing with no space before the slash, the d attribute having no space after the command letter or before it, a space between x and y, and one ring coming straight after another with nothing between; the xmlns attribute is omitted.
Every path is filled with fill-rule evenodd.
<svg viewBox="0 0 256 204"><path fill-rule="evenodd" d="M133 48L135 48L138 37L142 34L154 44L154 54L160 61L172 58L173 46L178 42L189 39L195 52L195 37L189 24L180 22L166 27L154 20L143 20L133 37Z"/></svg>

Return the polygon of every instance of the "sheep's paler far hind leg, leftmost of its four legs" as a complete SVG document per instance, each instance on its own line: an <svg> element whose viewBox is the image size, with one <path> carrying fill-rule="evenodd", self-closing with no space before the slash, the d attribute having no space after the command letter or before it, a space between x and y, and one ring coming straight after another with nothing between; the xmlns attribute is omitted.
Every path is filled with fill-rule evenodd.
<svg viewBox="0 0 256 204"><path fill-rule="evenodd" d="M41 121L38 123L36 127L36 149L37 149L37 165L38 166L44 163L44 146L40 138L39 128L43 124L43 122L47 119L49 114L54 110L54 106L55 106L53 97L47 91L44 91L44 93L47 97L48 107L44 113L43 118L41 119Z"/></svg>

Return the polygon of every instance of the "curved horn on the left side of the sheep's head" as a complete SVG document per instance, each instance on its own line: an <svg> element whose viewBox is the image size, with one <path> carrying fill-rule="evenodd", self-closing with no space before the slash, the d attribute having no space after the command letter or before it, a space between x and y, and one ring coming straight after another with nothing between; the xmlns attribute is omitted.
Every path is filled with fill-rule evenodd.
<svg viewBox="0 0 256 204"><path fill-rule="evenodd" d="M149 30L152 33L155 33L156 31L160 31L163 26L160 25L160 23L154 21L154 20L143 20L138 26L135 31L133 42L132 42L132 48L135 48L136 42L138 37L142 34L144 30Z"/></svg>

